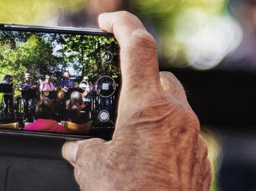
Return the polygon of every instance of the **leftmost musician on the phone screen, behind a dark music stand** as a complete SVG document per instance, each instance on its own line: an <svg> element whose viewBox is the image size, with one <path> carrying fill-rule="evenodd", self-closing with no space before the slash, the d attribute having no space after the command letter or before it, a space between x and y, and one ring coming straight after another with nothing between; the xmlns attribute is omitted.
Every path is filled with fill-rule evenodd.
<svg viewBox="0 0 256 191"><path fill-rule="evenodd" d="M12 85L12 79L13 77L11 75L6 75L4 77L5 81L3 83L11 84ZM14 86L12 86L14 88ZM4 118L8 115L8 106L9 110L11 111L11 116L14 116L14 95L13 93L5 93L4 94L4 102L5 102L5 109L4 109Z"/></svg>

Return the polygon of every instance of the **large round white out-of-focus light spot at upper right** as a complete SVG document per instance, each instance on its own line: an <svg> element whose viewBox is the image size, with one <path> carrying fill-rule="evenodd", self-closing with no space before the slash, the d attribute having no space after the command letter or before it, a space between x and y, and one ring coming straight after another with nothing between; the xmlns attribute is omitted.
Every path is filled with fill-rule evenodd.
<svg viewBox="0 0 256 191"><path fill-rule="evenodd" d="M179 21L176 36L185 45L188 66L195 69L214 68L242 40L240 25L228 15L215 16L200 9L188 9Z"/></svg>

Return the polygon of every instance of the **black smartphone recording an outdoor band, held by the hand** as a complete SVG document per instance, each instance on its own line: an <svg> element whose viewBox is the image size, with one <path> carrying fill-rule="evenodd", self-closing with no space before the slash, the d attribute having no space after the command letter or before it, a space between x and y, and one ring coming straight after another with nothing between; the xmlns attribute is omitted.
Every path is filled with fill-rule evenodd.
<svg viewBox="0 0 256 191"><path fill-rule="evenodd" d="M0 133L111 138L121 87L119 45L112 33L0 24L0 61ZM42 99L51 101L55 114L38 114ZM47 128L45 120L53 115L68 132ZM10 129L12 123L16 127ZM26 128L32 123L36 126Z"/></svg>

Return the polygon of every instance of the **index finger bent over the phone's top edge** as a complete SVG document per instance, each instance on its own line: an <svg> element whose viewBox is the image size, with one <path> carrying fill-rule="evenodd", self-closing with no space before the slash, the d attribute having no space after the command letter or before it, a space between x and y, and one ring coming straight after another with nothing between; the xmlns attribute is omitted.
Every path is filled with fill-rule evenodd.
<svg viewBox="0 0 256 191"><path fill-rule="evenodd" d="M137 16L125 11L101 14L99 26L114 33L121 48L121 97L122 93L155 92L160 84L157 46Z"/></svg>

